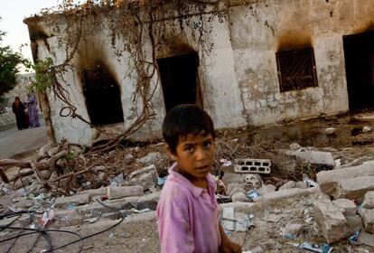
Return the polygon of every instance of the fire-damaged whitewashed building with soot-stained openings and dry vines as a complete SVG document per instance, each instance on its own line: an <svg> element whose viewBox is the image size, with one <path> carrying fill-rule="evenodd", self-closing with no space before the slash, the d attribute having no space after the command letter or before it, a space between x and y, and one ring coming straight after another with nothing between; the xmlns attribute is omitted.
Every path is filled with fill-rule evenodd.
<svg viewBox="0 0 374 253"><path fill-rule="evenodd" d="M25 19L34 61L51 59L69 94L69 107L54 89L42 99L57 142L122 133L146 106L138 140L159 137L182 103L217 128L374 106L374 0L145 2Z"/></svg>

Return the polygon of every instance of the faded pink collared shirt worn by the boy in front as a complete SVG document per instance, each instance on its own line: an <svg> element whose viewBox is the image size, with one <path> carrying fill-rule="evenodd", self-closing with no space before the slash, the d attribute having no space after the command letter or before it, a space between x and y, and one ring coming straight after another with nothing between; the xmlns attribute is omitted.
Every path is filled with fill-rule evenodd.
<svg viewBox="0 0 374 253"><path fill-rule="evenodd" d="M169 169L157 205L161 252L218 252L220 227L216 183L208 174L207 192L175 172L176 166L173 164Z"/></svg>

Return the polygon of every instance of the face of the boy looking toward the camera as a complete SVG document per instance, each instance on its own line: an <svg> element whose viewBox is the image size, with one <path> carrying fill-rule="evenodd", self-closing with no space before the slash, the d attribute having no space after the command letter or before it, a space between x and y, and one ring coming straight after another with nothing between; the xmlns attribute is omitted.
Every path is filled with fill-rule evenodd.
<svg viewBox="0 0 374 253"><path fill-rule="evenodd" d="M178 172L192 183L203 180L210 173L214 158L214 139L204 131L180 138L172 154L178 163Z"/></svg>

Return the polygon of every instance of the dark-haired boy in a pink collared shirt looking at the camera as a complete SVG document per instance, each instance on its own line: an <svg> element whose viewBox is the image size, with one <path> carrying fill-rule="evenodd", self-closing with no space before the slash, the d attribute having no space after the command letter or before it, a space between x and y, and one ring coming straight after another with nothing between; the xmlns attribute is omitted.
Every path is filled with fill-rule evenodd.
<svg viewBox="0 0 374 253"><path fill-rule="evenodd" d="M162 252L241 252L220 227L216 183L210 174L214 126L194 105L173 108L164 118L163 136L175 164L157 205Z"/></svg>

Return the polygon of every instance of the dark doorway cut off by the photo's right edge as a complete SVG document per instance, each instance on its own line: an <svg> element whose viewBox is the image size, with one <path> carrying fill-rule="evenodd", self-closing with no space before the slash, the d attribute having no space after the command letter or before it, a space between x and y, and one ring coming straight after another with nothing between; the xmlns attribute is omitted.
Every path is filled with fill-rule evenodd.
<svg viewBox="0 0 374 253"><path fill-rule="evenodd" d="M343 36L350 109L374 108L374 32Z"/></svg>

